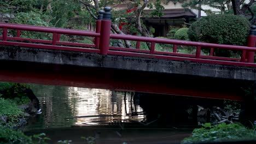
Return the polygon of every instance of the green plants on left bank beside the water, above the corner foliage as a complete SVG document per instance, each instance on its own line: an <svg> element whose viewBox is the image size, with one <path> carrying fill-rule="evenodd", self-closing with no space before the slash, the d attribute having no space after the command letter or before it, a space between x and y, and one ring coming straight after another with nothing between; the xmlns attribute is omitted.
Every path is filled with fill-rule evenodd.
<svg viewBox="0 0 256 144"><path fill-rule="evenodd" d="M7 122L10 125L19 122L19 118L24 114L24 111L11 100L0 98L0 107L0 116L7 116Z"/></svg>

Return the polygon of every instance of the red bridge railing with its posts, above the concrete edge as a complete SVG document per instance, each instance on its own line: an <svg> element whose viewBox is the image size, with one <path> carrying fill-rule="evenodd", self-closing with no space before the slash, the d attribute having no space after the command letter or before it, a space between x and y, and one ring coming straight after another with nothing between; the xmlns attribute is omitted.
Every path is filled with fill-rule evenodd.
<svg viewBox="0 0 256 144"><path fill-rule="evenodd" d="M54 50L68 50L79 52L94 52L101 55L119 55L119 56L135 56L148 57L158 59L170 59L174 61L191 61L199 63L214 63L225 65L237 65L246 67L256 67L254 63L254 52L256 51L255 43L256 37L249 35L248 46L236 45L219 45L210 43L200 43L194 41L174 40L174 39L159 39L139 37L134 35L110 34L110 9L104 9L105 13L102 19L100 12L99 19L96 22L96 32L80 31L75 29L28 26L13 23L0 23L2 28L2 35L0 36L0 45L13 45L21 47L32 47L37 49L54 49ZM12 30L11 34L8 34ZM16 32L15 34L13 32ZM30 39L21 37L23 31L41 32L52 34L51 40ZM61 41L61 35L79 35L82 37L93 37L94 44L72 43L69 41ZM136 41L136 46L133 49L109 46L110 39L131 40ZM142 50L141 42L150 43L150 50ZM155 44L166 44L172 47L172 52L156 51ZM178 46L193 46L196 51L195 54L178 53ZM201 49L208 48L210 53L208 56L201 55ZM215 49L241 51L239 58L217 57L213 56Z"/></svg>

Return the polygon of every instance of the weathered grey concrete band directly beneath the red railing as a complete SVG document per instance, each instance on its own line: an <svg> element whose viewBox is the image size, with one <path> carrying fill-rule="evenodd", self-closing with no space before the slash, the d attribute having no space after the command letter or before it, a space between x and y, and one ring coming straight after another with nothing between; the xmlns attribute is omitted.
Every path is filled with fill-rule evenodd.
<svg viewBox="0 0 256 144"><path fill-rule="evenodd" d="M128 56L104 56L97 53L31 49L18 46L0 46L0 48L0 60L7 61L114 68L247 81L256 80L256 68L249 67Z"/></svg>

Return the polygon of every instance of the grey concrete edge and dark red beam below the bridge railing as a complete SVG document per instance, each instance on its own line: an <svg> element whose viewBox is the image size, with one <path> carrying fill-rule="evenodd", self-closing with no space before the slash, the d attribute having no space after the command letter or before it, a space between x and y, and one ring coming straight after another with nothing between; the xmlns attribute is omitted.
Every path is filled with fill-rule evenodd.
<svg viewBox="0 0 256 144"><path fill-rule="evenodd" d="M256 68L1 46L0 81L243 99Z"/></svg>

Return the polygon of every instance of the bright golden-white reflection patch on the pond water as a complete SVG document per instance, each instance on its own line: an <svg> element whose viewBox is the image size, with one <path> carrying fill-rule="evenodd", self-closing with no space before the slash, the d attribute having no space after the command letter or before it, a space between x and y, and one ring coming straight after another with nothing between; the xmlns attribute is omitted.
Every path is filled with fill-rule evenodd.
<svg viewBox="0 0 256 144"><path fill-rule="evenodd" d="M94 116L86 118L77 118L74 125L97 125L108 124L111 122L130 122L142 121L144 115L126 116L124 92L114 92L106 89L90 89L68 87L68 100L78 98L74 110L76 116ZM126 97L126 110L131 113L130 94ZM72 103L69 103L72 104ZM72 105L70 105L72 106ZM134 109L134 105L132 103ZM143 111L141 107L136 106L137 111ZM109 115L100 117L97 115ZM114 117L120 115L120 117Z"/></svg>

